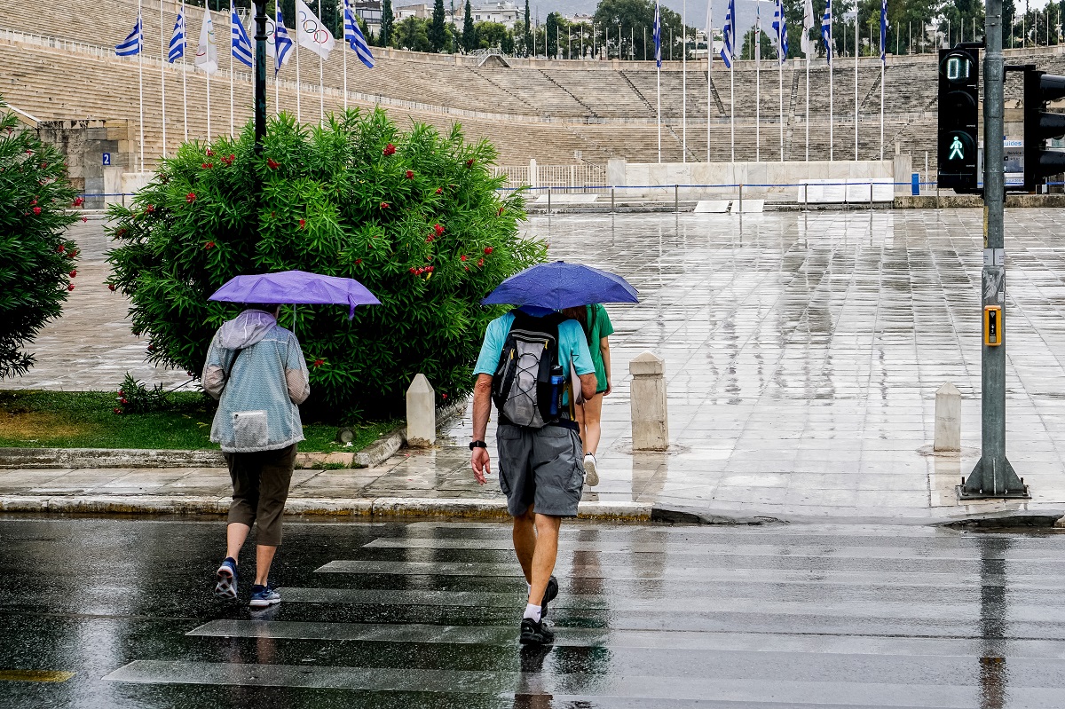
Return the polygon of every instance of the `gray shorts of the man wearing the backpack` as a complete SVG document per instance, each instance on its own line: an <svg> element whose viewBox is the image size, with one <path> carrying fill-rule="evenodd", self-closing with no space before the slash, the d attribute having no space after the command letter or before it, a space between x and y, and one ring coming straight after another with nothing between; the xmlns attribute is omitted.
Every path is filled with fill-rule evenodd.
<svg viewBox="0 0 1065 709"><path fill-rule="evenodd" d="M540 429L501 424L499 487L507 511L521 516L529 505L539 514L575 517L585 481L584 448L576 431L562 426Z"/></svg>

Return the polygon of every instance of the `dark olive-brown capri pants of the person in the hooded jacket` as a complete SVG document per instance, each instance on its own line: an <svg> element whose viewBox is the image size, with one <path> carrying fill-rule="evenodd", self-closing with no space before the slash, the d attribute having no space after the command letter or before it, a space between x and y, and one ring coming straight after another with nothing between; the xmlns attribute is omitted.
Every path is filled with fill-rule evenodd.
<svg viewBox="0 0 1065 709"><path fill-rule="evenodd" d="M281 545L281 515L289 498L292 468L296 463L296 444L278 450L227 452L226 465L233 481L233 501L229 524L251 526L259 523L256 544Z"/></svg>

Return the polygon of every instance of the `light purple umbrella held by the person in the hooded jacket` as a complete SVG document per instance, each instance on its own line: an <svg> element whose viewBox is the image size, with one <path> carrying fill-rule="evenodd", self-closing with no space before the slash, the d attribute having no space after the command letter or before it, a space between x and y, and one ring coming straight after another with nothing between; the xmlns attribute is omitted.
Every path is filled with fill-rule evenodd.
<svg viewBox="0 0 1065 709"><path fill-rule="evenodd" d="M354 278L321 276L306 270L237 276L214 292L209 300L261 302L264 304L347 304L347 319L356 306L380 306L381 301Z"/></svg>

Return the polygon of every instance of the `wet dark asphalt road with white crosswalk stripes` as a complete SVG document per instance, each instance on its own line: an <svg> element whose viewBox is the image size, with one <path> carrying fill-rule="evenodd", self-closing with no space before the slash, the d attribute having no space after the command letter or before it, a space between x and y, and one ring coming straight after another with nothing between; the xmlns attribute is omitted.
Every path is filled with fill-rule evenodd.
<svg viewBox="0 0 1065 709"><path fill-rule="evenodd" d="M263 612L211 596L223 534L0 518L0 706L1001 709L1065 691L1053 532L567 524L542 649L517 642L506 524L290 523Z"/></svg>

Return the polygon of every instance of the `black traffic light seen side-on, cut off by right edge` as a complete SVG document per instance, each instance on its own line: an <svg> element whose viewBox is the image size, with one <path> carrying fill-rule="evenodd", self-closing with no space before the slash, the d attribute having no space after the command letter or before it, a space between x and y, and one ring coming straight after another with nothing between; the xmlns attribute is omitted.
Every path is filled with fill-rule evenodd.
<svg viewBox="0 0 1065 709"><path fill-rule="evenodd" d="M1065 172L1065 152L1047 150L1049 138L1065 135L1065 114L1046 110L1065 97L1065 77L1025 67L1025 189L1032 192L1051 175Z"/></svg>

